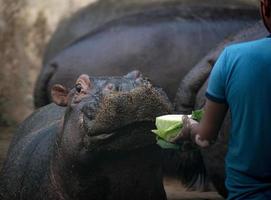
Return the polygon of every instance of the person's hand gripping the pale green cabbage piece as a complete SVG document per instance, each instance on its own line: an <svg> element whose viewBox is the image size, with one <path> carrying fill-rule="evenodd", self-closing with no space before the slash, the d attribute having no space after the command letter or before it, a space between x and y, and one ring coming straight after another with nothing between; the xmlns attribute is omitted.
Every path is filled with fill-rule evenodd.
<svg viewBox="0 0 271 200"><path fill-rule="evenodd" d="M199 123L187 115L184 115L182 118L183 127L180 133L173 139L170 140L171 143L180 144L184 141L195 142L195 136L197 134L197 129Z"/></svg>

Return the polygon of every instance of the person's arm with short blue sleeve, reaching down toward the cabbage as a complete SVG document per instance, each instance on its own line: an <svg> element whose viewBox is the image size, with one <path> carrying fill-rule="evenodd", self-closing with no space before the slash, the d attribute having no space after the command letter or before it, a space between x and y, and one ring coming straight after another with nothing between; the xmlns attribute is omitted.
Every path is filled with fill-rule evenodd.
<svg viewBox="0 0 271 200"><path fill-rule="evenodd" d="M228 110L226 87L229 67L228 51L225 49L219 56L209 78L204 115L195 136L195 142L200 146L208 146L210 141L217 138L226 116ZM204 140L209 142L201 143Z"/></svg>

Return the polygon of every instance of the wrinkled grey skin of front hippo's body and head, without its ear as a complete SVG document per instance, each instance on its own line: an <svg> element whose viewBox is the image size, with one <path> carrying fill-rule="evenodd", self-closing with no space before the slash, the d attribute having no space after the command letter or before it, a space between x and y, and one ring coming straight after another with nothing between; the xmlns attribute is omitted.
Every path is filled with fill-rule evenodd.
<svg viewBox="0 0 271 200"><path fill-rule="evenodd" d="M86 93L70 90L67 107L49 104L21 124L1 200L166 199L150 133L156 116L172 112L165 93L138 72L89 80Z"/></svg>

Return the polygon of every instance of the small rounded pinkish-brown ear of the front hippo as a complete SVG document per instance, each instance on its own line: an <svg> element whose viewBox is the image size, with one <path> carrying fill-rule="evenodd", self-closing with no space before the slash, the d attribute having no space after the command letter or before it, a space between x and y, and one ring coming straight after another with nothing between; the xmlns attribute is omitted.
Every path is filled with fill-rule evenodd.
<svg viewBox="0 0 271 200"><path fill-rule="evenodd" d="M68 94L69 91L62 85L56 84L51 89L51 96L53 102L59 106L68 105Z"/></svg>

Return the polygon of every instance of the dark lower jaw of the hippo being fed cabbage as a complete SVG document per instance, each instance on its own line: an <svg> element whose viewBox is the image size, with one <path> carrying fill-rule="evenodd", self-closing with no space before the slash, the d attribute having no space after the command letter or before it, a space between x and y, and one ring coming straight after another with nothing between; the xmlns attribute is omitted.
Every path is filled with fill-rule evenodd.
<svg viewBox="0 0 271 200"><path fill-rule="evenodd" d="M151 133L154 128L153 120L134 121L114 129L92 132L89 128L94 123L84 117L83 127L87 135L85 144L89 151L99 150L129 150L144 148L156 143L155 136Z"/></svg>

